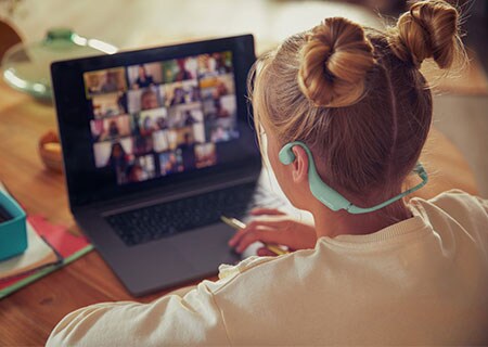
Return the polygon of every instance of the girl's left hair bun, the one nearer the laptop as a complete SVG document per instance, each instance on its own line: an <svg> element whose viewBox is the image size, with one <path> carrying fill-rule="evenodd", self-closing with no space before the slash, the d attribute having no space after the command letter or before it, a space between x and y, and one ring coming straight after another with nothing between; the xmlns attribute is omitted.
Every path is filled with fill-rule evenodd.
<svg viewBox="0 0 488 347"><path fill-rule="evenodd" d="M298 85L316 106L344 107L364 92L374 65L373 47L362 27L346 18L326 18L308 35L301 51Z"/></svg>

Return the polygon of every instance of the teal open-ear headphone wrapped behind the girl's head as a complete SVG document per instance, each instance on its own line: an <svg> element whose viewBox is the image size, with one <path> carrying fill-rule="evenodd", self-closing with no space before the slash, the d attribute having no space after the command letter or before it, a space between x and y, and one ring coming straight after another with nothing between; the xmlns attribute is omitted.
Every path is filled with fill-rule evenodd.
<svg viewBox="0 0 488 347"><path fill-rule="evenodd" d="M428 181L427 172L425 171L424 167L420 163L418 163L413 171L418 174L422 179L421 183L375 206L364 208L358 207L320 179L319 174L317 172L316 169L316 164L313 162L312 154L305 143L300 141L294 141L285 144L281 149L279 154L281 163L283 163L284 165L290 165L295 160L295 154L292 151L293 146L295 145L301 146L308 155L308 181L310 183L310 191L312 195L332 210L345 209L349 214L355 215L371 213L380 208L383 208L402 198L403 196L421 189Z"/></svg>

